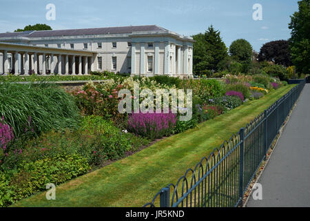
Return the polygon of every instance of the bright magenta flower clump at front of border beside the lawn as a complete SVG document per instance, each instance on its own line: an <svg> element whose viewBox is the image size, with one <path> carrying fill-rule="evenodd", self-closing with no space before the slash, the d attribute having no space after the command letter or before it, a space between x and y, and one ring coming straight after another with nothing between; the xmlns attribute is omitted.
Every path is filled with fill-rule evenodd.
<svg viewBox="0 0 310 221"><path fill-rule="evenodd" d="M132 113L128 117L128 130L151 140L169 136L176 125L176 114Z"/></svg>

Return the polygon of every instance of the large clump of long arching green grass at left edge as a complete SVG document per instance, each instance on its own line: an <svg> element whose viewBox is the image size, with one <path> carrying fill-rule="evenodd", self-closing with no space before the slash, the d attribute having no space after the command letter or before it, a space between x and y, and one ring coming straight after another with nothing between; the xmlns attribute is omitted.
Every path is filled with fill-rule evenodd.
<svg viewBox="0 0 310 221"><path fill-rule="evenodd" d="M79 110L71 95L52 84L0 84L0 116L16 137L25 132L32 117L34 133L54 128L76 128Z"/></svg>

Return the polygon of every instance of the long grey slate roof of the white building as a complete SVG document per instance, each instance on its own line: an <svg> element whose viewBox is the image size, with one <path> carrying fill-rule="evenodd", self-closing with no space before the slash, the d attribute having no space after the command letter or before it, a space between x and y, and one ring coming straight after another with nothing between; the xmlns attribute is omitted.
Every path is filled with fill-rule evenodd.
<svg viewBox="0 0 310 221"><path fill-rule="evenodd" d="M110 35L110 34L131 34L133 32L162 31L169 32L165 28L152 26L124 26L110 28L83 28L68 30L34 30L24 32L0 33L0 37L58 37L76 35Z"/></svg>

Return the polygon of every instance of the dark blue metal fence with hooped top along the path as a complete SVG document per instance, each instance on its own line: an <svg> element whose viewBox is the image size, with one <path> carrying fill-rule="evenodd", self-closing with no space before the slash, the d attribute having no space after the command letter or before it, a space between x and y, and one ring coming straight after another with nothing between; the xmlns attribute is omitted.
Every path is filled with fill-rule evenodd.
<svg viewBox="0 0 310 221"><path fill-rule="evenodd" d="M292 88L245 128L188 169L176 184L169 184L145 207L232 207L253 179L289 111L296 103L305 81Z"/></svg>

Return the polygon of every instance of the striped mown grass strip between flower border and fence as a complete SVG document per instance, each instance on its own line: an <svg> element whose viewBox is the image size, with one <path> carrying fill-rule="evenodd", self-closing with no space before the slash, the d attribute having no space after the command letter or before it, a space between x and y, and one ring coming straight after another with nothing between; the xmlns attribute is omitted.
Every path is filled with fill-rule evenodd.
<svg viewBox="0 0 310 221"><path fill-rule="evenodd" d="M39 193L13 206L143 206L293 86L274 90L192 130L62 184L56 188L56 200L48 201L45 193Z"/></svg>

